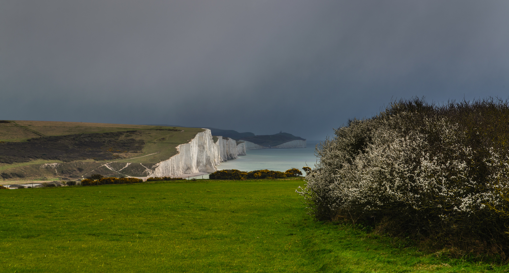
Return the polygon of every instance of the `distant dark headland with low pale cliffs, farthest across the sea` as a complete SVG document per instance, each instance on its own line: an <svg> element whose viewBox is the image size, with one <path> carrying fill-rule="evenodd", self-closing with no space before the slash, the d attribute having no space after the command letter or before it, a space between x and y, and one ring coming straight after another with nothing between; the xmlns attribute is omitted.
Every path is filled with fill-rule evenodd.
<svg viewBox="0 0 509 273"><path fill-rule="evenodd" d="M246 142L246 150L274 149L274 148L306 148L306 140L290 133L276 133L269 135L254 135L242 138Z"/></svg>

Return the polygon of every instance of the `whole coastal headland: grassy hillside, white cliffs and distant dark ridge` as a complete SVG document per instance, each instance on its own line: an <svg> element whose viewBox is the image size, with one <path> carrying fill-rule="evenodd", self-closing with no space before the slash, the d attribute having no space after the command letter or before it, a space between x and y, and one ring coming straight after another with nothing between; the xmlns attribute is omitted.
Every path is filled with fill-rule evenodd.
<svg viewBox="0 0 509 273"><path fill-rule="evenodd" d="M0 183L79 180L91 174L199 176L217 171L221 162L245 155L246 150L305 145L304 139L282 132L254 135L162 125L2 121Z"/></svg>

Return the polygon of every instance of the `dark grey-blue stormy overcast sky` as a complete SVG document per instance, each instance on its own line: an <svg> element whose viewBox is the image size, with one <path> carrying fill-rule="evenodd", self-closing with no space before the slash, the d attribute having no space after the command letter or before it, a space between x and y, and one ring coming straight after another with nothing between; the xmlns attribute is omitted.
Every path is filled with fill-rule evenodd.
<svg viewBox="0 0 509 273"><path fill-rule="evenodd" d="M509 96L509 1L0 0L0 119L322 140L391 99Z"/></svg>

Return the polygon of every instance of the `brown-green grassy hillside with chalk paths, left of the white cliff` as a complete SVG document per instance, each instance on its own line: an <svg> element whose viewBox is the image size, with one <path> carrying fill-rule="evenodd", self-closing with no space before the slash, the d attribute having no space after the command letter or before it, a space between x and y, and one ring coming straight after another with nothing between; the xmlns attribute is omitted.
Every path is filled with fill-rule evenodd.
<svg viewBox="0 0 509 273"><path fill-rule="evenodd" d="M143 172L147 168L175 155L175 147L201 131L150 125L4 121L0 123L0 181L77 179L91 172L146 176ZM110 164L103 166L106 163Z"/></svg>

